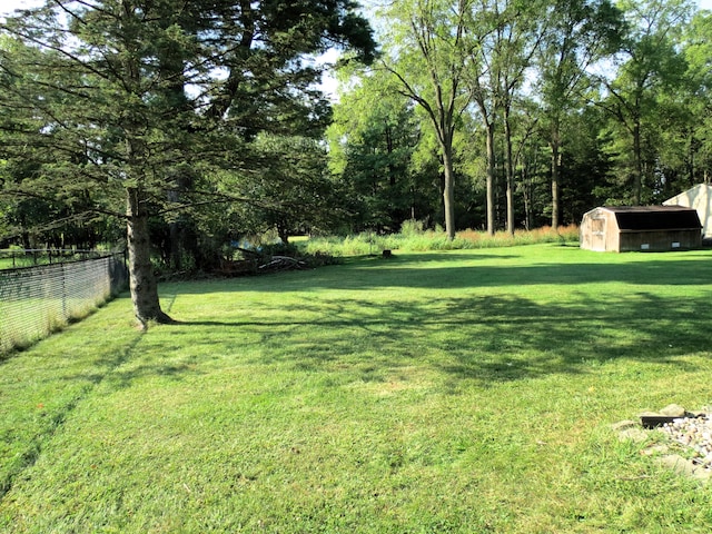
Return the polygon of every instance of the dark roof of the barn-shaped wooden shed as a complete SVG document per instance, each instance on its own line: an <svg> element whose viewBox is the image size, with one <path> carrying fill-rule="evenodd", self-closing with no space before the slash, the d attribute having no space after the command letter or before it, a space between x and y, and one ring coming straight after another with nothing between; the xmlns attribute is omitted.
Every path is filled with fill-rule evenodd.
<svg viewBox="0 0 712 534"><path fill-rule="evenodd" d="M698 211L684 206L617 206L603 209L615 214L621 230L702 228Z"/></svg>

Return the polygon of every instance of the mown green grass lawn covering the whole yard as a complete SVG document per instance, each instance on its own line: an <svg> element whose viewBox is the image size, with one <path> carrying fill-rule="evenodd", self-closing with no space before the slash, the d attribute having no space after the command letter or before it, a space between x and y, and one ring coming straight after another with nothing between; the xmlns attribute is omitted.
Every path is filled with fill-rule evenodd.
<svg viewBox="0 0 712 534"><path fill-rule="evenodd" d="M349 259L119 298L0 362L9 533L710 532L610 425L712 404L712 251ZM651 439L656 439L654 436Z"/></svg>

